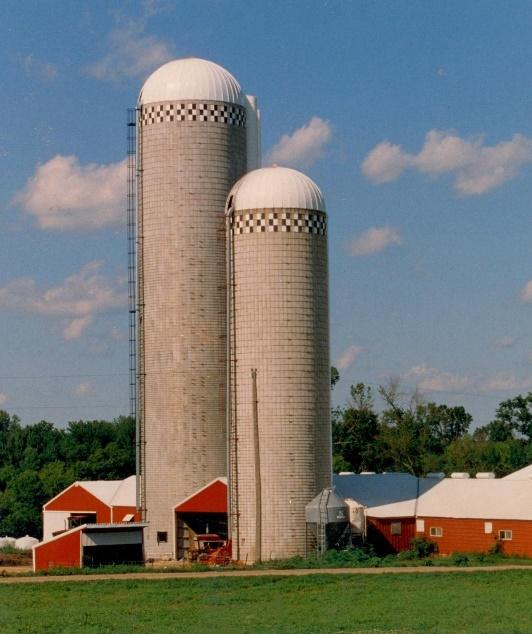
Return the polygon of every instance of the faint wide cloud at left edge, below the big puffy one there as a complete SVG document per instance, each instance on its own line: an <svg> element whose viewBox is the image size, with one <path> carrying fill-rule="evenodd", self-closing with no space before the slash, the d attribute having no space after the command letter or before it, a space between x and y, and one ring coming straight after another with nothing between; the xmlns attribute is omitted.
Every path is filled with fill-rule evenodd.
<svg viewBox="0 0 532 634"><path fill-rule="evenodd" d="M65 340L79 339L92 319L127 306L126 280L101 272L102 261L89 262L60 285L39 288L31 278L0 287L0 309L67 320Z"/></svg>

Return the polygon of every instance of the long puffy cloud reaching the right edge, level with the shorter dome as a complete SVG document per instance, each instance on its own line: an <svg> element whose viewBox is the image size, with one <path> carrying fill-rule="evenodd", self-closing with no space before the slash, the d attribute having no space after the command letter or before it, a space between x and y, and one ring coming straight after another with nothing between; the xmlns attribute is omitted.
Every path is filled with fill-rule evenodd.
<svg viewBox="0 0 532 634"><path fill-rule="evenodd" d="M452 174L455 189L464 196L474 196L502 185L529 163L532 139L522 134L489 146L483 136L463 139L453 131L430 130L417 154L383 141L367 154L361 169L374 183L395 180L408 168L431 177Z"/></svg>

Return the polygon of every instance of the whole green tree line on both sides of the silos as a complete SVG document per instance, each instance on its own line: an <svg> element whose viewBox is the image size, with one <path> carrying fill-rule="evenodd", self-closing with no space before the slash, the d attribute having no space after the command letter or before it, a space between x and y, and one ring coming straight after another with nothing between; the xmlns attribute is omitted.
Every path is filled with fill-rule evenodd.
<svg viewBox="0 0 532 634"><path fill-rule="evenodd" d="M338 379L333 368L332 387ZM488 425L471 430L472 423L463 407L405 395L397 382L376 392L357 383L348 403L332 411L334 471L493 471L501 477L532 463L532 393L500 403ZM0 535L40 537L42 505L64 488L134 472L130 417L58 429L47 421L23 426L0 410Z"/></svg>

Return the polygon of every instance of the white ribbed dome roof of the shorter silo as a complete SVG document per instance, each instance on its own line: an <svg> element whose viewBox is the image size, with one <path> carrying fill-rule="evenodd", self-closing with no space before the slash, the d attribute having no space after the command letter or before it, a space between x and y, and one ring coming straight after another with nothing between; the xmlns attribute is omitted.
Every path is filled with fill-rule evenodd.
<svg viewBox="0 0 532 634"><path fill-rule="evenodd" d="M309 209L325 211L316 183L289 167L263 167L243 176L229 194L235 211L241 209Z"/></svg>

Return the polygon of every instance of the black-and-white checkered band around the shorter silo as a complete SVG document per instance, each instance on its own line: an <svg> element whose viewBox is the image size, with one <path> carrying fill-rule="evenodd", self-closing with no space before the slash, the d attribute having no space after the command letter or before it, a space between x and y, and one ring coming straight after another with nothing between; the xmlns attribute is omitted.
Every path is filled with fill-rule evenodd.
<svg viewBox="0 0 532 634"><path fill-rule="evenodd" d="M327 216L320 211L258 210L243 214L235 212L235 234L243 233L327 233Z"/></svg>

